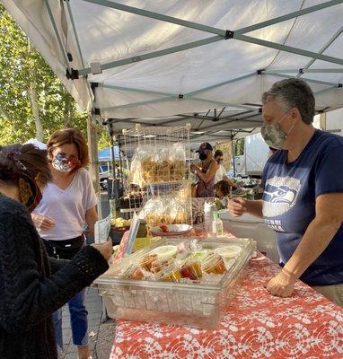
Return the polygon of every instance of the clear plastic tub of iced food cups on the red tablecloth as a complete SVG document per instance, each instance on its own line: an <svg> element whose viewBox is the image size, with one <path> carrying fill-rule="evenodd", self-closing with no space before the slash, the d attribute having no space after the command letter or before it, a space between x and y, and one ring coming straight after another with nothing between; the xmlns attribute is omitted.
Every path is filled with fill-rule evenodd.
<svg viewBox="0 0 343 359"><path fill-rule="evenodd" d="M242 249L237 251L235 258L228 259L230 261L228 270L219 277L218 273L223 271L223 263L218 261L217 254L214 258L208 258L206 262L208 269L206 278L204 276L201 278L200 268L192 260L179 269L167 267L161 272L160 280L141 279L141 273L136 270L135 266L129 269L131 279L123 279L119 276L123 268L139 263L141 258L148 258L148 254L158 247L177 246L182 241L194 239L194 237L187 240L165 238L120 259L100 276L95 284L104 298L110 318L154 321L196 328L217 328L223 308L233 300L233 294L244 272L243 269L256 250L255 241L224 238L207 238L199 241L204 252L198 251L196 258L204 256L206 250L227 248L230 245ZM181 276L189 278L189 281L179 283ZM212 277L219 279L212 280ZM199 281L190 281L195 278Z"/></svg>

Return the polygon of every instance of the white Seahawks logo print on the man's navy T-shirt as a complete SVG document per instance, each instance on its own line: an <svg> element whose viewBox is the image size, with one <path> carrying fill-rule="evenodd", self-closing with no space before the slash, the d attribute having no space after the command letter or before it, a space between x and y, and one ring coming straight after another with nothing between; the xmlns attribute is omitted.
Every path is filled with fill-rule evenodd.
<svg viewBox="0 0 343 359"><path fill-rule="evenodd" d="M283 232L282 215L295 206L300 188L300 180L293 177L273 177L266 181L263 193L263 216L270 227L277 227L274 229ZM269 219L272 217L278 218Z"/></svg>

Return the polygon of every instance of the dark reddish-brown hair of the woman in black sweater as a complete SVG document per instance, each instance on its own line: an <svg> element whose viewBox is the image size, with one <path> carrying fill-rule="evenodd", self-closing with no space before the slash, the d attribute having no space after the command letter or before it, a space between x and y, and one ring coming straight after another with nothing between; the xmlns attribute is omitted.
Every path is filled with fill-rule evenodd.
<svg viewBox="0 0 343 359"><path fill-rule="evenodd" d="M11 144L0 147L0 180L16 183L26 174L41 185L51 180L47 151L33 144Z"/></svg>

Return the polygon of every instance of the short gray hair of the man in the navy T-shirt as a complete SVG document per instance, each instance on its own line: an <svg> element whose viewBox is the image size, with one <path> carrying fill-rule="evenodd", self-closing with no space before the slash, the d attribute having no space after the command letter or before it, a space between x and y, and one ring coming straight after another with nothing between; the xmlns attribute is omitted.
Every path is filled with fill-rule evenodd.
<svg viewBox="0 0 343 359"><path fill-rule="evenodd" d="M262 95L262 104L275 100L285 112L297 108L306 124L311 124L314 116L314 96L311 87L300 79L286 79L274 83Z"/></svg>

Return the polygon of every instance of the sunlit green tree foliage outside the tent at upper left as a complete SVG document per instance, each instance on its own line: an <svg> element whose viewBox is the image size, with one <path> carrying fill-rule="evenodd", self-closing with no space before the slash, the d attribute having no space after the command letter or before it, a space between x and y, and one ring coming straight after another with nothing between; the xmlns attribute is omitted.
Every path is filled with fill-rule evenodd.
<svg viewBox="0 0 343 359"><path fill-rule="evenodd" d="M63 127L80 128L86 135L87 115L76 110L74 99L1 4L0 54L0 144L36 136L31 82L37 89L44 141Z"/></svg>

